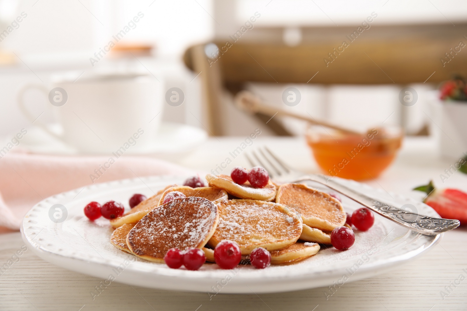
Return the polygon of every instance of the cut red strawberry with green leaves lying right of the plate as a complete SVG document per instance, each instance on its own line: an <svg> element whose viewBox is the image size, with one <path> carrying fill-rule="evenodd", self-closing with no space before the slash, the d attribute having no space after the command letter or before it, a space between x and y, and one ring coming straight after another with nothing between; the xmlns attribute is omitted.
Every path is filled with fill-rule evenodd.
<svg viewBox="0 0 467 311"><path fill-rule="evenodd" d="M413 190L423 191L427 195L425 204L443 218L457 219L461 225L467 224L467 194L457 189L436 189L433 182L428 185L416 187Z"/></svg>

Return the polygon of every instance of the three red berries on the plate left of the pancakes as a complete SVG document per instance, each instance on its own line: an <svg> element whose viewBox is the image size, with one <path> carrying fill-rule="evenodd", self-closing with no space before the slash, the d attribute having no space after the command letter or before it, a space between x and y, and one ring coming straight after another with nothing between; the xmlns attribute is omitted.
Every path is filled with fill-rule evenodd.
<svg viewBox="0 0 467 311"><path fill-rule="evenodd" d="M128 201L128 204L131 208L133 208L146 199L147 198L145 195L133 194L133 196ZM96 201L92 201L85 206L85 215L87 218L89 218L90 221L95 221L100 216L103 216L107 219L114 219L123 215L123 212L125 212L125 207L123 207L123 204L112 200L107 201L102 206L99 204L99 202Z"/></svg>

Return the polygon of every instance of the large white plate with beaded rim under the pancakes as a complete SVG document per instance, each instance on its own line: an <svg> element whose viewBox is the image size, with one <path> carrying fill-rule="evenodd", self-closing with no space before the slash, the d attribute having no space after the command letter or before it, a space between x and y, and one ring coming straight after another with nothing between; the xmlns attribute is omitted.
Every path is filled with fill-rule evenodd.
<svg viewBox="0 0 467 311"><path fill-rule="evenodd" d="M186 177L186 176L185 176ZM22 223L22 236L28 247L44 260L66 269L96 276L108 285L116 282L166 290L194 290L220 293L266 293L301 290L324 285L356 281L375 276L419 255L433 246L440 235L427 236L407 230L381 216L367 232L355 230L355 244L347 251L333 247L322 248L317 255L302 262L271 266L255 270L239 266L235 270L220 270L215 264L205 264L198 271L170 269L164 264L138 259L109 242L112 229L109 222L100 218L90 222L83 214L83 207L92 200L123 202L134 193L148 197L168 184L181 183L184 177L150 177L142 180L119 180L94 184L81 189L54 195L39 202L26 214ZM385 192L354 181L341 180L368 195L390 201ZM322 189L322 186L321 186ZM424 203L395 194L396 206L411 204L419 213L434 217L439 215ZM360 207L343 198L346 210ZM62 223L51 221L52 206L62 204L67 218ZM59 216L59 214L57 214ZM130 262L131 260L131 262ZM118 268L120 267L120 268ZM120 270L119 270L120 269Z"/></svg>

